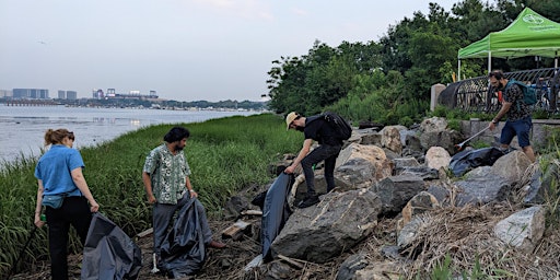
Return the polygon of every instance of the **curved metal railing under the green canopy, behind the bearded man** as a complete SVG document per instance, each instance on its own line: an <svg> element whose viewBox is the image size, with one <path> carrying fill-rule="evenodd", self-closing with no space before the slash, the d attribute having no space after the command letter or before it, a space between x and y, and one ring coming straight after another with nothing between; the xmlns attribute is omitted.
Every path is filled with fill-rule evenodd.
<svg viewBox="0 0 560 280"><path fill-rule="evenodd" d="M534 86L537 91L536 109L548 113L558 113L559 94L559 74L560 68L534 69L517 72L504 73L505 79L515 79ZM477 77L468 80L458 81L453 86L453 108L474 113L495 113L500 110L501 103L498 93L494 92L488 82L488 77ZM447 104L450 104L447 102Z"/></svg>

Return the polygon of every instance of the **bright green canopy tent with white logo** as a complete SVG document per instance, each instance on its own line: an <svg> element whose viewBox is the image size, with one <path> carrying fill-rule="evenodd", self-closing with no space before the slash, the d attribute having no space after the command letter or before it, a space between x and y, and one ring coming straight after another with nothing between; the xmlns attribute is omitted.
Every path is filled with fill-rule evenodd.
<svg viewBox="0 0 560 280"><path fill-rule="evenodd" d="M517 58L526 56L550 57L558 68L560 51L560 23L550 21L525 8L517 19L499 32L491 32L481 40L475 42L458 51L458 80L460 60L488 57L488 71L491 71L492 57Z"/></svg>

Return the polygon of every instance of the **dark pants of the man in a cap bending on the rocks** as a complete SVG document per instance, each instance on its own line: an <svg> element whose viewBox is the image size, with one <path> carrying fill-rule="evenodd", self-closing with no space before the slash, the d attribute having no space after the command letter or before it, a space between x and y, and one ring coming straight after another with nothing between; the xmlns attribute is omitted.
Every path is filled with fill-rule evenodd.
<svg viewBox="0 0 560 280"><path fill-rule="evenodd" d="M340 145L322 144L315 148L302 160L303 174L305 184L307 184L307 196L316 196L315 192L315 174L313 165L325 161L325 179L327 180L327 191L335 188L335 164L340 153Z"/></svg>

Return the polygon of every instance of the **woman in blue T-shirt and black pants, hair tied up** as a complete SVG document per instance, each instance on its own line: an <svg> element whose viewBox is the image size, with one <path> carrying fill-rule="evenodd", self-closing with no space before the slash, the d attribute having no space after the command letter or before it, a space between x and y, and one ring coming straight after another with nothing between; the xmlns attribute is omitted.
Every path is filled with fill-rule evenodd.
<svg viewBox="0 0 560 280"><path fill-rule="evenodd" d="M70 224L75 229L82 244L85 243L92 212L97 212L100 205L95 201L82 174L84 163L80 152L72 149L74 133L67 129L48 129L45 145L50 149L40 156L35 166L37 178L37 205L35 225L42 228L40 221L44 196L63 196L59 208L45 206L48 223L48 244L50 254L50 272L52 279L68 279L68 232Z"/></svg>

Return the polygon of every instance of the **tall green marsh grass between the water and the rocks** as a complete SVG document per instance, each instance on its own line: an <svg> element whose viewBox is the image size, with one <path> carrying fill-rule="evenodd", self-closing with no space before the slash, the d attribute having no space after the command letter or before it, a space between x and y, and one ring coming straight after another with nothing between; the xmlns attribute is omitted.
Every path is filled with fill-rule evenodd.
<svg viewBox="0 0 560 280"><path fill-rule="evenodd" d="M262 114L235 116L205 122L182 124L189 129L185 153L194 187L211 215L219 215L224 201L240 189L268 183L268 166L279 155L295 153L302 135L285 131L282 117ZM148 153L163 143L163 136L175 125L159 125L120 136L110 142L81 149L84 176L101 205L100 211L130 236L151 228L151 206L141 179ZM77 136L78 138L80 136ZM36 159L4 163L0 173L0 276L18 258L33 229L37 183L33 172ZM79 252L75 234L71 252ZM36 231L23 254L19 270L32 268L47 258L46 229Z"/></svg>

